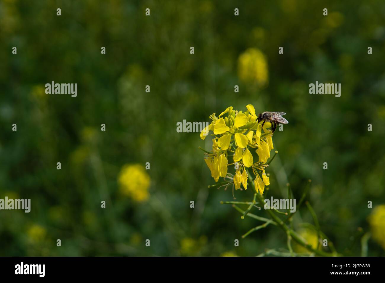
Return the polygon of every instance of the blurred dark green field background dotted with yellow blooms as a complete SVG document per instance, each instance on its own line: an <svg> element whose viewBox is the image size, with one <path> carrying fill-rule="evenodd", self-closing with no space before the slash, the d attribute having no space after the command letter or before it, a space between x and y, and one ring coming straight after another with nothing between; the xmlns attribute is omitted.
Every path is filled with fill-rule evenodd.
<svg viewBox="0 0 385 283"><path fill-rule="evenodd" d="M299 199L311 179L307 199L336 250L360 255L372 231L368 255L384 256L385 213L369 221L385 204L384 15L382 0L0 1L0 198L32 206L0 211L0 256L286 248L273 226L241 239L261 223L219 203L231 190L207 188L214 180L198 147L211 140L176 132L183 119L209 122L247 104L290 122L273 137L279 154L264 196L286 197L290 183ZM316 80L341 83L341 97L309 94ZM77 97L45 94L51 81L77 83ZM253 189L235 196L249 201ZM304 222L313 223L306 206L294 225Z"/></svg>

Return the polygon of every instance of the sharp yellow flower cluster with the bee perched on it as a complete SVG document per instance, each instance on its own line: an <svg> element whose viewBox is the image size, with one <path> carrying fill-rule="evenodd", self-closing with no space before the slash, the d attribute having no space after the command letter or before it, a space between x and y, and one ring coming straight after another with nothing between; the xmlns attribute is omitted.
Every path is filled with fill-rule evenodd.
<svg viewBox="0 0 385 283"><path fill-rule="evenodd" d="M264 186L270 184L265 167L268 166L266 162L270 157L270 151L274 148L272 132L268 130L271 123L263 124L263 121L258 121L253 105L247 105L246 109L242 112L228 107L218 117L215 113L209 117L212 122L201 132L201 139L205 139L208 132L213 131L213 150L212 153L206 153L204 161L215 182L218 182L219 177L230 179L235 189L239 189L241 184L247 189L249 175L246 168L251 167L256 176L255 188L257 192L263 194ZM222 117L225 114L227 116ZM253 149L258 154L258 162L254 162L250 151ZM229 162L229 158L232 158L233 162ZM228 173L228 166L233 164L236 170L234 175Z"/></svg>

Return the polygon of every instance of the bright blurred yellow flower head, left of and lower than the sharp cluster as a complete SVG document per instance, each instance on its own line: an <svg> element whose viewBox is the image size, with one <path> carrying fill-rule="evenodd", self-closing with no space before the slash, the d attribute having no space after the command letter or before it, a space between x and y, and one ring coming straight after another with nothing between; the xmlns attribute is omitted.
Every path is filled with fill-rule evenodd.
<svg viewBox="0 0 385 283"><path fill-rule="evenodd" d="M148 192L150 176L141 164L124 165L119 173L118 182L121 192L135 201L146 201L150 196Z"/></svg>

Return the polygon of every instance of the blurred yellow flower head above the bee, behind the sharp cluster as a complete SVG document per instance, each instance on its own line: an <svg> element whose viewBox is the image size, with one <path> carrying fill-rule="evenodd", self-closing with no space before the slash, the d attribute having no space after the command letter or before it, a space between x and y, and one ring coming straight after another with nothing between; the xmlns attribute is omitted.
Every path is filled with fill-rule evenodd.
<svg viewBox="0 0 385 283"><path fill-rule="evenodd" d="M265 55L256 48L249 48L239 55L238 76L243 82L256 82L259 87L266 86L269 73Z"/></svg>

